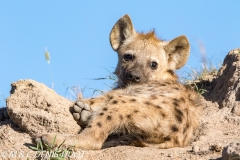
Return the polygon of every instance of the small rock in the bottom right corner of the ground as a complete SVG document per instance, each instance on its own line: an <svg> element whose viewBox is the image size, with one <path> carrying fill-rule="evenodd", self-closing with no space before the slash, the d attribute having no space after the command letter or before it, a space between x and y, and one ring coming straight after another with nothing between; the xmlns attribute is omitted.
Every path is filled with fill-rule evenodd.
<svg viewBox="0 0 240 160"><path fill-rule="evenodd" d="M240 142L232 142L224 147L222 152L222 160L240 160Z"/></svg>

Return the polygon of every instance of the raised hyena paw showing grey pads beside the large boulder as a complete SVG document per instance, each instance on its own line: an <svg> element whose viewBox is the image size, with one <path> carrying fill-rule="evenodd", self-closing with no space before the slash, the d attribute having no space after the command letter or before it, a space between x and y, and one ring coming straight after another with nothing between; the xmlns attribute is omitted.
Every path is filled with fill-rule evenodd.
<svg viewBox="0 0 240 160"><path fill-rule="evenodd" d="M82 101L77 101L73 106L73 118L81 127L85 127L92 115L91 108Z"/></svg>

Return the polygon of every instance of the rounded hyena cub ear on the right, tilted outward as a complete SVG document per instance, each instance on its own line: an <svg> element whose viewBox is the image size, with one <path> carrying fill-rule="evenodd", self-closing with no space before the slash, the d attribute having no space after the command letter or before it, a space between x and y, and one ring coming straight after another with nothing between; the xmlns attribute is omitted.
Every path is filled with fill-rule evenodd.
<svg viewBox="0 0 240 160"><path fill-rule="evenodd" d="M176 70L185 65L188 60L190 44L186 36L179 36L164 46L168 55L170 69Z"/></svg>

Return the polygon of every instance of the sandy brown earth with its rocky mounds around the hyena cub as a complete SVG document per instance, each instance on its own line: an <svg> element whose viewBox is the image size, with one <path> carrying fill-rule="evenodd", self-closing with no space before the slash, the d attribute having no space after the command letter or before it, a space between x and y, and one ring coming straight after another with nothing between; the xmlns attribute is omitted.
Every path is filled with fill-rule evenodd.
<svg viewBox="0 0 240 160"><path fill-rule="evenodd" d="M118 146L97 151L76 151L75 159L230 159L226 155L227 149L222 158L222 150L231 142L239 146L240 49L229 52L216 78L197 85L208 92L203 94L205 108L201 126L189 146L171 149ZM33 80L13 83L11 96L7 99L11 119L0 121L0 159L26 160L27 154L29 159L33 159L36 152L28 148L30 135L42 132L78 133L80 127L69 112L72 104Z"/></svg>

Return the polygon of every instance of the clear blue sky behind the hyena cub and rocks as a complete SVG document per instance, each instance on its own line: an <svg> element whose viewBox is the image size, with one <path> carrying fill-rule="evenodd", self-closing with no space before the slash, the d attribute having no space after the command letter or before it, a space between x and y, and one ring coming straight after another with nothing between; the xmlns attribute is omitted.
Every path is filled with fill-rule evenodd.
<svg viewBox="0 0 240 160"><path fill-rule="evenodd" d="M222 62L229 50L240 47L240 1L7 1L0 2L0 107L5 106L10 84L33 79L70 97L68 87L108 90L112 81L96 81L114 71L117 54L109 33L125 14L137 31L155 29L171 40L186 35L191 43L188 66L201 68L204 46L207 59ZM50 53L50 66L44 58ZM177 73L189 72L187 67ZM52 77L52 78L51 78Z"/></svg>

